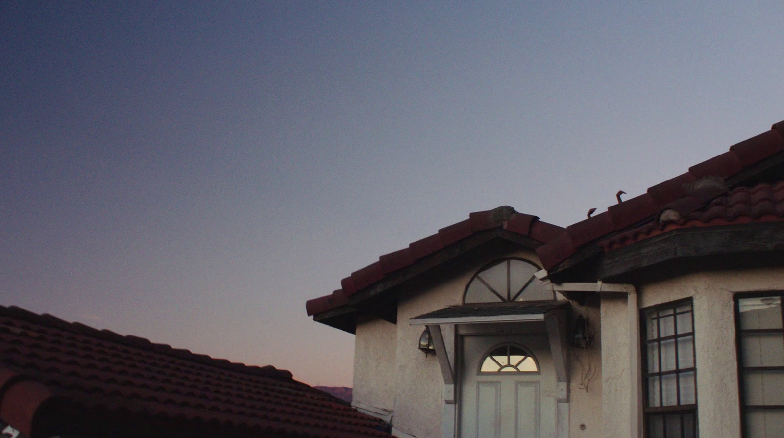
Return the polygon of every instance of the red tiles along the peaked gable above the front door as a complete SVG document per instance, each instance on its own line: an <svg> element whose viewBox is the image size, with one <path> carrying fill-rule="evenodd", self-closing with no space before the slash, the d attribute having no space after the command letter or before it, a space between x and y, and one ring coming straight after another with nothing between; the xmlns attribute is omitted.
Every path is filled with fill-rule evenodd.
<svg viewBox="0 0 784 438"><path fill-rule="evenodd" d="M434 254L477 232L492 228L502 228L542 243L550 242L564 232L564 228L539 221L539 217L530 214L517 213L510 206L500 206L493 210L472 213L465 221L441 228L437 234L419 239L408 245L408 248L384 254L379 257L379 261L376 263L353 272L350 276L340 280L342 289L332 292L331 295L307 301L307 314L308 316L317 315L332 308L346 305L348 297L384 279L391 273L413 265L419 259Z"/></svg>

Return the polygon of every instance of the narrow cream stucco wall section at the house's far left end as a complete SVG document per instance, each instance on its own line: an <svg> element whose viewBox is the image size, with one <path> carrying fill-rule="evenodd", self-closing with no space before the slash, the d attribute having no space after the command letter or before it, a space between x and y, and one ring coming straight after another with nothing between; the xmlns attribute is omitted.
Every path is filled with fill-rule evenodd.
<svg viewBox="0 0 784 438"><path fill-rule="evenodd" d="M394 411L397 327L383 319L358 322L354 340L353 401Z"/></svg>

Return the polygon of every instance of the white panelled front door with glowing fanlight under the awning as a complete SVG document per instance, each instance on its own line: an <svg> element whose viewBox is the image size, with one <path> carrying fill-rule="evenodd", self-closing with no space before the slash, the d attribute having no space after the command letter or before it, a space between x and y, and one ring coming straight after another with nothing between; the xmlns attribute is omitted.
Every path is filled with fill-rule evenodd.
<svg viewBox="0 0 784 438"><path fill-rule="evenodd" d="M546 336L463 336L462 438L554 438L556 378Z"/></svg>

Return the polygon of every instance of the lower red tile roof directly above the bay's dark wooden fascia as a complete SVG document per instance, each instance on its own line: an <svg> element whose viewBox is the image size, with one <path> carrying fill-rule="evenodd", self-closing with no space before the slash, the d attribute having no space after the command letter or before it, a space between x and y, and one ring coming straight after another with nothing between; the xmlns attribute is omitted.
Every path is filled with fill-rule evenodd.
<svg viewBox="0 0 784 438"><path fill-rule="evenodd" d="M673 203L677 215L655 221L600 242L605 251L615 250L630 243L640 242L677 228L710 227L750 222L784 221L784 181L757 184L753 188L739 187L714 198L699 210L691 210L691 203ZM677 217L681 217L677 219Z"/></svg>

